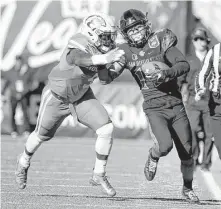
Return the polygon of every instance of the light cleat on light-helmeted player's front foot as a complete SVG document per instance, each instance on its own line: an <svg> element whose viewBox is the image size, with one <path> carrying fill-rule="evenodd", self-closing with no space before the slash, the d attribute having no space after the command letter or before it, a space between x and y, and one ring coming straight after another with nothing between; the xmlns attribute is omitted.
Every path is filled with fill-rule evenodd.
<svg viewBox="0 0 221 209"><path fill-rule="evenodd" d="M110 197L116 195L116 191L111 186L110 182L107 180L107 176L105 176L105 173L102 174L94 173L89 182L92 186L101 186L104 193L106 193Z"/></svg>

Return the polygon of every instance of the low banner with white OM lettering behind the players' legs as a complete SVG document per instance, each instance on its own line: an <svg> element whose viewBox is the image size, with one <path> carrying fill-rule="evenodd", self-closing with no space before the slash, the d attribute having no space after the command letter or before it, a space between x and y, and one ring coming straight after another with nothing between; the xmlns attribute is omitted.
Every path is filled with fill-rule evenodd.
<svg viewBox="0 0 221 209"><path fill-rule="evenodd" d="M142 110L143 98L137 85L129 83L113 83L106 86L92 85L96 98L104 105L115 126L114 137L117 138L144 138L149 139L149 126ZM37 121L40 105L40 91L30 96L29 116L33 127ZM23 115L20 107L15 116L16 123L23 124ZM9 103L1 106L2 133L10 133ZM75 116L68 116L57 131L57 135L69 137L92 137L95 133L80 124Z"/></svg>

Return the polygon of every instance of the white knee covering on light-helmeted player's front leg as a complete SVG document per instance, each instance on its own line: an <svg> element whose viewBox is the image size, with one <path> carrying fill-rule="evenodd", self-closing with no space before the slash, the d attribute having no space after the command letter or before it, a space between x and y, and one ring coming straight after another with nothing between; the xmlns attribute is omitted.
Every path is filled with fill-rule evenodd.
<svg viewBox="0 0 221 209"><path fill-rule="evenodd" d="M103 125L101 128L97 129L97 141L95 144L95 151L100 155L109 155L113 139L112 139L112 133L113 133L114 126L112 123L108 123Z"/></svg>

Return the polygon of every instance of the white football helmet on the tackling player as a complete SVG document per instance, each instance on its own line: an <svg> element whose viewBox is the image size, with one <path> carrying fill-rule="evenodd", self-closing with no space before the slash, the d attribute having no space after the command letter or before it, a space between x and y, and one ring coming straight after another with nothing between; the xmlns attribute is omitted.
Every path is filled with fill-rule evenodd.
<svg viewBox="0 0 221 209"><path fill-rule="evenodd" d="M91 14L84 18L80 32L86 35L90 42L101 53L107 53L115 48L117 30L114 20L105 14Z"/></svg>

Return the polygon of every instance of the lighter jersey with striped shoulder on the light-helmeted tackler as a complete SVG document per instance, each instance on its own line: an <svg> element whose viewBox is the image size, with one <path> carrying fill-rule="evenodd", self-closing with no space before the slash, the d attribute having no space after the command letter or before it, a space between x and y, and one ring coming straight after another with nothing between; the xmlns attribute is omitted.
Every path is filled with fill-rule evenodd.
<svg viewBox="0 0 221 209"><path fill-rule="evenodd" d="M60 62L50 72L48 80L50 89L70 103L79 100L86 93L97 77L98 69L98 66L69 65L66 56L74 48L91 55L100 54L83 34L78 33L69 40Z"/></svg>

